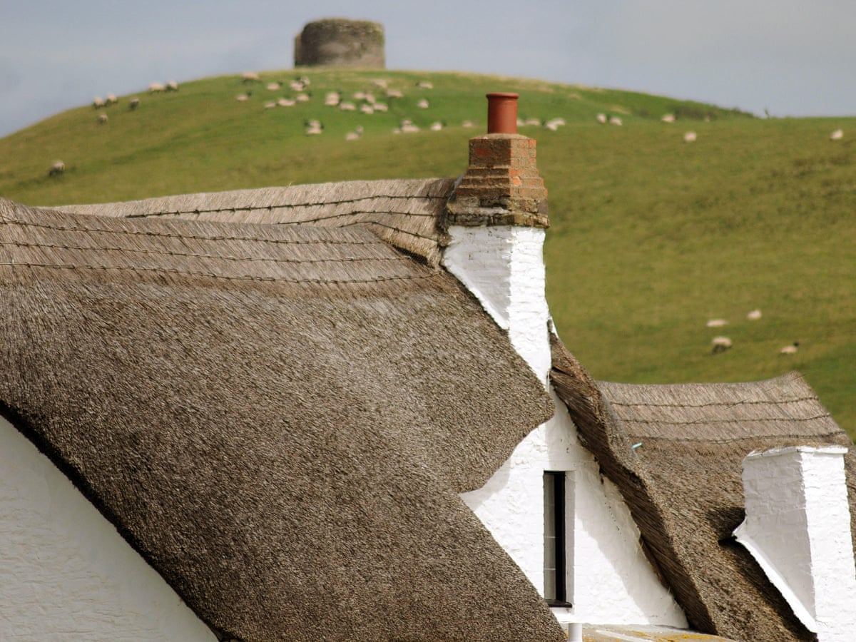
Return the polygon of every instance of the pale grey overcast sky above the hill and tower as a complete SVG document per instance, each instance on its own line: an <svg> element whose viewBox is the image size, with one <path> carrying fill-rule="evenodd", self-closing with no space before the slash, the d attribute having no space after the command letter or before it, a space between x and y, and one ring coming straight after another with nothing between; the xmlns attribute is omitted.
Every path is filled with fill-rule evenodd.
<svg viewBox="0 0 856 642"><path fill-rule="evenodd" d="M151 82L290 68L306 22L377 21L390 69L856 116L856 0L0 0L0 136ZM419 7L419 9L416 9Z"/></svg>

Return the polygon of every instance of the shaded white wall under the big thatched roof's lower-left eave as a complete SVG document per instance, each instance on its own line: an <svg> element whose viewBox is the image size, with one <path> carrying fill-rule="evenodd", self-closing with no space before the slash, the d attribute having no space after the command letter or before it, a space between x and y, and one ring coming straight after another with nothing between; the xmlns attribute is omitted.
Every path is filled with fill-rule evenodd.
<svg viewBox="0 0 856 642"><path fill-rule="evenodd" d="M211 629L0 418L0 639L209 640Z"/></svg>

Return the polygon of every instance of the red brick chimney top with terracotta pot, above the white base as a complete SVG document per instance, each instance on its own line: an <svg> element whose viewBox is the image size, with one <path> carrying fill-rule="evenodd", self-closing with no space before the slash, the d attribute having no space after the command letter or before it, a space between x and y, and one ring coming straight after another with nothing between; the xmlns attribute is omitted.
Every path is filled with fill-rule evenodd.
<svg viewBox="0 0 856 642"><path fill-rule="evenodd" d="M549 227L535 140L517 134L518 94L487 98L488 133L470 139L469 167L446 205L446 225Z"/></svg>

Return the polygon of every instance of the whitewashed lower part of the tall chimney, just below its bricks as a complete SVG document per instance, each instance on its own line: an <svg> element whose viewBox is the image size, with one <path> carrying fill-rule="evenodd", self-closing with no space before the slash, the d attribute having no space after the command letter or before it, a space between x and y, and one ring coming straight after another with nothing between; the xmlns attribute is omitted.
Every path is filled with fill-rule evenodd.
<svg viewBox="0 0 856 642"><path fill-rule="evenodd" d="M479 300L526 363L547 385L552 360L544 294L544 229L452 226L443 267Z"/></svg>

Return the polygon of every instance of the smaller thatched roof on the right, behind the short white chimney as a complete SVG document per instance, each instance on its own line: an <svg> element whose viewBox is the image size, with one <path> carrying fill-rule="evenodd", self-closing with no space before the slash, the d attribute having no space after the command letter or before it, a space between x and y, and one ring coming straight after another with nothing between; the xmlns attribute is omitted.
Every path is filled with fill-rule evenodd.
<svg viewBox="0 0 856 642"><path fill-rule="evenodd" d="M554 339L551 378L581 440L621 490L646 553L691 627L734 639L814 639L732 537L745 516L741 463L752 450L850 444L800 375L755 383L596 383ZM847 455L850 485L854 473Z"/></svg>

